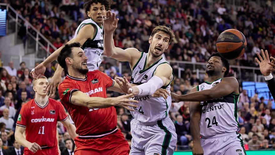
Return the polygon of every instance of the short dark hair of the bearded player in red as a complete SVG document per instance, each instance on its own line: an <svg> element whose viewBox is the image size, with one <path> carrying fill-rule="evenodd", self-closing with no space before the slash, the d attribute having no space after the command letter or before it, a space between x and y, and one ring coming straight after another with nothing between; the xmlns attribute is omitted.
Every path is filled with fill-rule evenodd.
<svg viewBox="0 0 275 155"><path fill-rule="evenodd" d="M73 54L72 54L72 49L73 47L80 47L80 43L75 42L72 44L65 44L65 46L63 47L63 49L61 49L58 57L57 57L57 61L58 64L67 71L67 65L66 65L66 58L73 58Z"/></svg>

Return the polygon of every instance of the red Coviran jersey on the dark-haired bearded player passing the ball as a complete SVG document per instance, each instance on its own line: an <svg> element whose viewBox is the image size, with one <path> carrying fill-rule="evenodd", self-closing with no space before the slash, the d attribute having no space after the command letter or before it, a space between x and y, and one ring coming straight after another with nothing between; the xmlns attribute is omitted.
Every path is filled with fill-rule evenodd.
<svg viewBox="0 0 275 155"><path fill-rule="evenodd" d="M58 93L62 104L69 111L76 126L76 133L93 135L108 132L117 126L115 108L89 109L71 103L71 96L75 91L82 91L89 97L107 98L106 89L112 87L114 81L99 70L90 71L85 79L74 78L67 75L58 86Z"/></svg>

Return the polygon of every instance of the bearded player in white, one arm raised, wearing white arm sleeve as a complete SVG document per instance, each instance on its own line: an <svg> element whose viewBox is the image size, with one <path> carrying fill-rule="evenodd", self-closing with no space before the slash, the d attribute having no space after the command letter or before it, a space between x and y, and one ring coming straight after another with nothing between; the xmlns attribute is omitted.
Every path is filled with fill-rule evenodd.
<svg viewBox="0 0 275 155"><path fill-rule="evenodd" d="M159 88L170 91L173 80L172 68L163 59L162 54L168 48L174 37L173 31L166 26L157 26L149 38L148 54L138 49L121 49L114 46L113 32L117 28L118 19L115 13L108 11L103 17L104 54L119 61L128 61L133 71L131 86L126 79L120 85L128 85L129 92L136 96L138 107L131 112L132 155L172 155L176 147L177 135L175 126L168 116L171 106L171 96L153 98L151 95ZM117 81L119 83L119 81Z"/></svg>

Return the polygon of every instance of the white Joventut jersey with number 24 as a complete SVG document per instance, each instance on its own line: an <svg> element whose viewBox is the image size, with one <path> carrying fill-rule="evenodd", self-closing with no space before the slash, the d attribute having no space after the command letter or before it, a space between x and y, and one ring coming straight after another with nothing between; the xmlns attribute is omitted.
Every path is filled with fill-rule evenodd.
<svg viewBox="0 0 275 155"><path fill-rule="evenodd" d="M221 80L222 78L212 83L205 81L197 86L197 91L211 89ZM207 138L217 134L236 133L240 129L237 112L238 100L239 94L231 93L224 97L200 102L202 114L200 135Z"/></svg>

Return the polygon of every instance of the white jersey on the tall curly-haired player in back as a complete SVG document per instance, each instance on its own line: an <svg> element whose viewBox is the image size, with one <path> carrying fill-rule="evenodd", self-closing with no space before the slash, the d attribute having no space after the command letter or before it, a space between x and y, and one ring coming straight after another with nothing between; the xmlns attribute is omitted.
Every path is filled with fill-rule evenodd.
<svg viewBox="0 0 275 155"><path fill-rule="evenodd" d="M88 57L88 69L89 71L93 71L98 69L98 66L101 64L100 56L103 53L103 27L98 26L98 24L92 19L86 19L76 29L74 38L77 36L78 31L83 28L83 26L88 24L94 25L94 27L96 27L96 34L93 36L93 39L86 40L82 49L85 51L85 55Z"/></svg>

